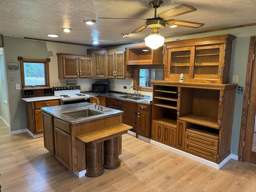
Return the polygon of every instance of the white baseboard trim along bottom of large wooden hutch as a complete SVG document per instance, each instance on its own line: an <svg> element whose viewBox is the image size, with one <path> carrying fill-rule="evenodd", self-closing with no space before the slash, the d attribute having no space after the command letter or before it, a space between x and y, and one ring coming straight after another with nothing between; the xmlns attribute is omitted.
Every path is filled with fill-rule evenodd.
<svg viewBox="0 0 256 192"><path fill-rule="evenodd" d="M162 144L162 143L159 143L159 142L156 142L154 140L150 140L150 143L153 144L153 145L156 145L156 146L159 146L161 148L164 148L166 150L169 150L171 152L174 152L174 153L177 153L177 154L180 154L182 156L185 156L185 157L188 157L190 159L193 159L193 160L196 160L197 162L200 162L202 164L205 164L205 165L208 165L210 167L213 167L213 168L216 168L216 169L220 169L224 164L226 164L226 162L228 162L228 160L230 160L234 155L230 154L228 157L226 157L222 162L220 162L220 164L216 164L214 162L211 162L209 160L206 160L206 159L203 159L203 158L200 158L198 156L195 156L195 155L192 155L190 153L187 153L187 152L184 152L184 151L181 151L181 150L178 150L176 148L173 148L173 147L170 147L168 145L165 145L165 144Z"/></svg>

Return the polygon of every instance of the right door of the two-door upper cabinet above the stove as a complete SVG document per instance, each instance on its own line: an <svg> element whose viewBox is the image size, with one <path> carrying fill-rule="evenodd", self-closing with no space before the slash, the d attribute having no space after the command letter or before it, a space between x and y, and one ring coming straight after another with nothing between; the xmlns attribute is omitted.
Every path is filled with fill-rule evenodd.
<svg viewBox="0 0 256 192"><path fill-rule="evenodd" d="M79 58L80 78L92 78L92 58Z"/></svg>

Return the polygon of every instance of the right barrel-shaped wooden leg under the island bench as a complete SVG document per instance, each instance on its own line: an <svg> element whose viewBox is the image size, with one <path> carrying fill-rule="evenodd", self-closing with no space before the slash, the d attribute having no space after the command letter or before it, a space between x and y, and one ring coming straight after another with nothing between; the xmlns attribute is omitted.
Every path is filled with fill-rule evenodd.
<svg viewBox="0 0 256 192"><path fill-rule="evenodd" d="M119 166L118 137L115 137L104 141L104 168L115 169Z"/></svg>

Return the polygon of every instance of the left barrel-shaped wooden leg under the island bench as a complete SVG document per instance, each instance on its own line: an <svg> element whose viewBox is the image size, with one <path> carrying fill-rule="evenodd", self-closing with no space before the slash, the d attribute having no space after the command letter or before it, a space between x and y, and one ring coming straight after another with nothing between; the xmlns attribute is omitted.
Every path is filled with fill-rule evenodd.
<svg viewBox="0 0 256 192"><path fill-rule="evenodd" d="M102 166L102 142L92 144L86 143L85 160L86 176L98 177L104 173Z"/></svg>

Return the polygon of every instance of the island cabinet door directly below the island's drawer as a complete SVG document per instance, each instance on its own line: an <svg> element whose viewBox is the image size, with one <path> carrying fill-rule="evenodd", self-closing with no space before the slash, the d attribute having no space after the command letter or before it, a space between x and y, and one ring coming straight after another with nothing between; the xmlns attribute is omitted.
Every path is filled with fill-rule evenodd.
<svg viewBox="0 0 256 192"><path fill-rule="evenodd" d="M71 170L71 136L70 134L54 128L55 156L66 168ZM71 170L72 171L72 170Z"/></svg>

